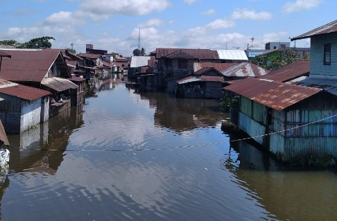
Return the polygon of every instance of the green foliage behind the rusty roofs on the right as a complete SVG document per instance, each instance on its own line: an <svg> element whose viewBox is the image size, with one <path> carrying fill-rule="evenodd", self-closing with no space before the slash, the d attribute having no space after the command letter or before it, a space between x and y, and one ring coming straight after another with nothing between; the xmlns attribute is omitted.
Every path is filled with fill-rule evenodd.
<svg viewBox="0 0 337 221"><path fill-rule="evenodd" d="M273 71L288 64L293 64L293 62L296 62L297 60L307 59L309 59L308 55L301 57L299 55L299 51L297 50L281 49L279 50L279 53L275 55L256 56L251 60L251 62L253 64L257 64L259 67Z"/></svg>

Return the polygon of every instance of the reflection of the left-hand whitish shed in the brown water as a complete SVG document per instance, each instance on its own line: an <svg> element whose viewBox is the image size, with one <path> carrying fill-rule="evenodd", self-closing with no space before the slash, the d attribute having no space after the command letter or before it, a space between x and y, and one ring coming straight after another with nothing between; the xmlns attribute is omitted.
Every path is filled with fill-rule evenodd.
<svg viewBox="0 0 337 221"><path fill-rule="evenodd" d="M82 124L83 112L71 107L37 128L8 136L12 146L10 169L54 174L67 150L69 136Z"/></svg>

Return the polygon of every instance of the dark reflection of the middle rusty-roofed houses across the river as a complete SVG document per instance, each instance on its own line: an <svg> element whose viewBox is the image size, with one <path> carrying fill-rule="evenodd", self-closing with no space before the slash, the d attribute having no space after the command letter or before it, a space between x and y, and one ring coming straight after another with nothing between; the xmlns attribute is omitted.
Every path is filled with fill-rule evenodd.
<svg viewBox="0 0 337 221"><path fill-rule="evenodd" d="M215 126L224 117L224 113L218 112L216 100L175 98L165 93L141 94L141 99L157 107L155 125L176 132Z"/></svg>

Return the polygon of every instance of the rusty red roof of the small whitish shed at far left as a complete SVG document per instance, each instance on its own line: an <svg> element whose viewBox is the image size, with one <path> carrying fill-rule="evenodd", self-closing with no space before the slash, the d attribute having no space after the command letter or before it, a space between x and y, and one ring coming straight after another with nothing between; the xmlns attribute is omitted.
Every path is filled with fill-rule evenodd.
<svg viewBox="0 0 337 221"><path fill-rule="evenodd" d="M51 94L49 91L28 87L25 85L15 85L10 87L0 87L0 93L22 98L24 100L35 100Z"/></svg>

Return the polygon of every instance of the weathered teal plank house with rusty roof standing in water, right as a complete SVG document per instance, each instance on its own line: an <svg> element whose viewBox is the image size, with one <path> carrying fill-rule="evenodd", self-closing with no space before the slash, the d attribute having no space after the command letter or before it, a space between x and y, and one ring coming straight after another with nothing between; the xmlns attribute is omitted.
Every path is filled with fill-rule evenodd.
<svg viewBox="0 0 337 221"><path fill-rule="evenodd" d="M225 89L240 96L239 109L231 110L232 123L278 159L292 162L329 153L337 156L337 97L333 94L254 78Z"/></svg>

